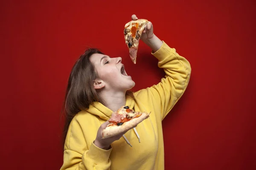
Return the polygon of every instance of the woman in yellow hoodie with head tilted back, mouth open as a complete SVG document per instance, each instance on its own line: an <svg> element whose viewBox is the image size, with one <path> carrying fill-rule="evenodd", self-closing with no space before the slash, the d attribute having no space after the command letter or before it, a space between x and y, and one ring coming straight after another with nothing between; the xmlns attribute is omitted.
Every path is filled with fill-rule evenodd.
<svg viewBox="0 0 256 170"><path fill-rule="evenodd" d="M152 23L141 40L166 73L150 88L131 94L135 83L122 71L122 59L96 49L87 50L74 65L65 99L68 129L61 170L164 169L162 120L183 95L191 68L175 48L154 35ZM136 128L102 139L108 119L121 106L151 114Z"/></svg>

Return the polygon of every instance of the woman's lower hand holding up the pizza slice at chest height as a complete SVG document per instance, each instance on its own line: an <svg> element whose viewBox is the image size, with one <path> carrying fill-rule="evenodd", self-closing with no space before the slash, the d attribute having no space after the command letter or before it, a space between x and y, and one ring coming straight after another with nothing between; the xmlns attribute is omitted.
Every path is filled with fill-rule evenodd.
<svg viewBox="0 0 256 170"><path fill-rule="evenodd" d="M116 140L119 140L127 131L125 131L124 133L118 134L116 136L112 136L110 138L106 138L106 139L102 139L102 130L104 130L107 126L108 126L109 122L106 121L104 122L98 130L96 139L94 141L94 144L96 145L96 147L102 148L104 150L108 150L110 149L110 144L113 143ZM135 126L136 127L136 126ZM132 127L133 128L133 127Z"/></svg>

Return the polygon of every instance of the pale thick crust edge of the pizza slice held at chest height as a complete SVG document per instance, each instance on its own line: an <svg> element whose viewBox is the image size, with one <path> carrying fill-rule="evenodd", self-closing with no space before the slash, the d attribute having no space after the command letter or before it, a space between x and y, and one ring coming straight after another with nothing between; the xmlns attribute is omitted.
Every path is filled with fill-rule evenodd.
<svg viewBox="0 0 256 170"><path fill-rule="evenodd" d="M112 125L106 127L102 131L102 139L109 138L120 133L124 133L125 131L131 129L132 127L142 122L144 119L147 119L149 117L149 114L150 113L143 112L140 117L131 119L128 122L124 122L122 125Z"/></svg>

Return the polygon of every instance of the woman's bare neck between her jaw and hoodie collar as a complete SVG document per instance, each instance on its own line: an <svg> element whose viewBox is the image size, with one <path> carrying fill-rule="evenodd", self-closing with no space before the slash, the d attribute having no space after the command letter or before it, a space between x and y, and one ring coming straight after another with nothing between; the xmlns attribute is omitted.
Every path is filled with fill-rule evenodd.
<svg viewBox="0 0 256 170"><path fill-rule="evenodd" d="M101 91L99 96L102 99L102 104L111 111L117 111L126 103L125 92Z"/></svg>

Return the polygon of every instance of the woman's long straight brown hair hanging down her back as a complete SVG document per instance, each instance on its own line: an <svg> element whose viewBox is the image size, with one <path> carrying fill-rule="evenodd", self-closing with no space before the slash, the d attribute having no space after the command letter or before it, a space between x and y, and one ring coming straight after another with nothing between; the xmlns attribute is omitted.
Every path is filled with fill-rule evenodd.
<svg viewBox="0 0 256 170"><path fill-rule="evenodd" d="M97 48L88 48L76 61L70 73L63 106L65 116L63 143L65 143L67 131L73 117L78 112L87 110L92 102L102 101L93 87L93 80L98 77L94 65L90 62L90 56L93 54L103 53ZM134 99L131 91L127 91L126 95Z"/></svg>

